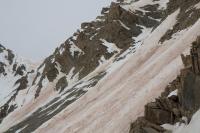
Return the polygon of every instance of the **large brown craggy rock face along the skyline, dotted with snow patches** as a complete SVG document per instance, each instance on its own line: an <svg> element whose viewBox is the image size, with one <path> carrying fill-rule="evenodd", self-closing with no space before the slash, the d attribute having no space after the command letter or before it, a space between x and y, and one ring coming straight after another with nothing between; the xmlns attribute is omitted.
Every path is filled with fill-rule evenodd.
<svg viewBox="0 0 200 133"><path fill-rule="evenodd" d="M156 18L164 18L164 15L161 15L163 11L156 11L156 9L156 7L148 9L149 14L133 13L123 9L120 3L113 2L110 7L102 9L101 16L98 16L95 21L82 23L81 30L74 33L51 56L45 59L42 64L45 65L45 68L37 76L40 80L39 83L36 83L39 86L36 97L39 96L45 77L49 82L56 79L59 74L58 67L66 75L73 69L74 74L79 73L79 79L82 79L98 67L102 57L110 59L127 50L135 41L133 37L142 33L143 27L152 28L159 24L157 20L149 17L152 16L150 13L158 12L160 15ZM108 52L102 40L114 43L119 51ZM79 50L72 53L73 47ZM42 76L39 76L40 74ZM59 79L59 81L61 80ZM62 86L67 85L67 82L64 82Z"/></svg>

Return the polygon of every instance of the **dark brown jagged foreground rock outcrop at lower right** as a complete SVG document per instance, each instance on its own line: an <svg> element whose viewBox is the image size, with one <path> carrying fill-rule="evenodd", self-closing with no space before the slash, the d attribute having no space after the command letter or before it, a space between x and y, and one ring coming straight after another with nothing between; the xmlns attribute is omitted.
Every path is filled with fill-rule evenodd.
<svg viewBox="0 0 200 133"><path fill-rule="evenodd" d="M161 97L145 106L144 117L131 124L130 133L166 133L169 131L165 131L160 125L174 124L183 116L191 119L200 108L199 55L200 37L193 43L191 54L182 55L185 68L181 70L180 76L166 87ZM174 90L178 90L178 95L169 96Z"/></svg>

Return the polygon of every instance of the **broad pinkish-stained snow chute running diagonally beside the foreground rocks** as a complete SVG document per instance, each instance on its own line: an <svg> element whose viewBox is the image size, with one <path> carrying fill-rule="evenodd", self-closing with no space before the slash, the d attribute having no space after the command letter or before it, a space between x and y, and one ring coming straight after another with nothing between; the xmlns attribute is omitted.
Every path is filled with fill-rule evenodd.
<svg viewBox="0 0 200 133"><path fill-rule="evenodd" d="M160 37L175 24L178 13L168 16L123 65L36 132L128 132L130 122L143 114L144 105L179 74L183 67L180 54L188 52L200 33L198 21L159 45Z"/></svg>

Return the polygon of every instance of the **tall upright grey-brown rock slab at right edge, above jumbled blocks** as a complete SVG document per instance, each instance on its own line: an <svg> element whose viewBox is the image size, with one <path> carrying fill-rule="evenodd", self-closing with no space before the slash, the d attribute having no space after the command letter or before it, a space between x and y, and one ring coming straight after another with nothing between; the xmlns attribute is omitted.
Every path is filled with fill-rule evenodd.
<svg viewBox="0 0 200 133"><path fill-rule="evenodd" d="M200 108L200 37L193 43L190 53L192 65L182 71L182 87L179 91L181 106L188 117Z"/></svg>

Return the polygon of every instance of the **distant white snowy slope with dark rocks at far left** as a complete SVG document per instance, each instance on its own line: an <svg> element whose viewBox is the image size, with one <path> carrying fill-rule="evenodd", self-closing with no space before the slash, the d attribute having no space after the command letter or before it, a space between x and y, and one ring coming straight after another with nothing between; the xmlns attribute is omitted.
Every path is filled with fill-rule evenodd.
<svg viewBox="0 0 200 133"><path fill-rule="evenodd" d="M0 44L0 121L24 102L16 96L30 86L35 68L30 61L17 57Z"/></svg>

